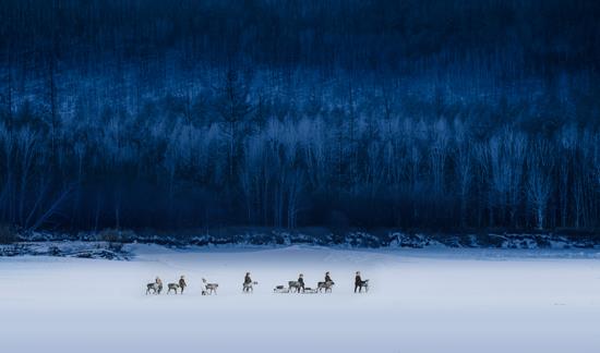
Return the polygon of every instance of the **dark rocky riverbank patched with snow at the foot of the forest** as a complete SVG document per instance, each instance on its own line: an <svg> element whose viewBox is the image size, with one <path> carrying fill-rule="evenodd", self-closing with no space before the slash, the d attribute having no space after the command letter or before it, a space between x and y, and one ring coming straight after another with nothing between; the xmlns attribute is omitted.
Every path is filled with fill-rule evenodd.
<svg viewBox="0 0 600 353"><path fill-rule="evenodd" d="M15 235L16 245L0 245L0 256L57 255L79 256L72 245L85 257L127 258L120 244L143 243L175 247L281 247L313 245L336 248L504 248L504 249L598 249L600 235L580 234L425 234L393 230L376 232L332 232L325 228L280 230L271 228L224 228L179 233L156 233L122 230L82 232L77 234L34 232ZM71 242L71 243L69 243ZM46 245L44 245L44 243ZM85 243L88 243L85 246ZM64 248L67 246L67 248ZM103 249L99 252L98 249ZM91 256L87 256L91 255Z"/></svg>

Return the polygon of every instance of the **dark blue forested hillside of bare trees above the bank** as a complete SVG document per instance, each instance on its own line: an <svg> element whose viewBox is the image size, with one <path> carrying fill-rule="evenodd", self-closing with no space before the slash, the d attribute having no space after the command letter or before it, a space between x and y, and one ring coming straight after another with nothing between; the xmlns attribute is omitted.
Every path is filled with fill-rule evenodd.
<svg viewBox="0 0 600 353"><path fill-rule="evenodd" d="M7 0L0 221L598 229L598 1Z"/></svg>

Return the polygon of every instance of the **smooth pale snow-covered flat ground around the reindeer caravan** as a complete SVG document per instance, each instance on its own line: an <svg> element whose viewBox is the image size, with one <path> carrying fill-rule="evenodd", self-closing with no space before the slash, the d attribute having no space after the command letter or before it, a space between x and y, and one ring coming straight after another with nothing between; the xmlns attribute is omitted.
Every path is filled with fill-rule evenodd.
<svg viewBox="0 0 600 353"><path fill-rule="evenodd" d="M600 352L593 252L131 247L131 261L0 257L0 352ZM273 293L326 270L332 294ZM180 275L183 295L145 295Z"/></svg>

